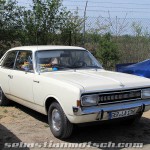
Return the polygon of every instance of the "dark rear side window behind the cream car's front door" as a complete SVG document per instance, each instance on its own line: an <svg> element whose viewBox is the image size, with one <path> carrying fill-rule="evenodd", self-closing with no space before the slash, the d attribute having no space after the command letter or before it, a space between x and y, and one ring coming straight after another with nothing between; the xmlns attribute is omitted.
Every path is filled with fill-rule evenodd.
<svg viewBox="0 0 150 150"><path fill-rule="evenodd" d="M14 62L16 58L17 51L10 51L7 53L7 56L5 57L2 67L8 68L8 69L13 69L14 67Z"/></svg>

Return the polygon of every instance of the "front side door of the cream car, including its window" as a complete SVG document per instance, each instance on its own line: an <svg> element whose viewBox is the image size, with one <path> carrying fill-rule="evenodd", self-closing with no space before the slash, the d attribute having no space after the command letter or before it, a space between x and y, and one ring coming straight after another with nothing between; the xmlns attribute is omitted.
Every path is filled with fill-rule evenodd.
<svg viewBox="0 0 150 150"><path fill-rule="evenodd" d="M25 101L34 102L33 78L32 52L18 51L14 70L11 71L11 95Z"/></svg>

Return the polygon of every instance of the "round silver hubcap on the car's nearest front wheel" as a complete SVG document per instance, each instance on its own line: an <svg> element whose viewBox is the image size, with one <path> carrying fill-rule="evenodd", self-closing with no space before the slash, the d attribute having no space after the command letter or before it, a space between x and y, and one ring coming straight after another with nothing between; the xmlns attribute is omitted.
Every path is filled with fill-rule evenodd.
<svg viewBox="0 0 150 150"><path fill-rule="evenodd" d="M61 117L57 109L52 111L52 126L55 131L59 131L61 127Z"/></svg>

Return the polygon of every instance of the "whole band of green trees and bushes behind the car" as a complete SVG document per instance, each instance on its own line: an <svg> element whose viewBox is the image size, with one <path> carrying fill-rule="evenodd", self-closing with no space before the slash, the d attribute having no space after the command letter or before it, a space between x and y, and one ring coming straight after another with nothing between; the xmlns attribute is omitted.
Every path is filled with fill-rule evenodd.
<svg viewBox="0 0 150 150"><path fill-rule="evenodd" d="M0 10L0 57L18 45L81 46L83 43L107 69L112 69L118 61L138 62L150 56L149 28L142 23L133 22L132 33L123 35L129 28L126 17L122 21L109 17L104 22L100 17L93 26L93 22L90 24L79 16L78 9L71 13L63 7L62 0L32 2L31 9L27 9L18 6L17 0L0 0L0 5L4 5L4 11Z"/></svg>

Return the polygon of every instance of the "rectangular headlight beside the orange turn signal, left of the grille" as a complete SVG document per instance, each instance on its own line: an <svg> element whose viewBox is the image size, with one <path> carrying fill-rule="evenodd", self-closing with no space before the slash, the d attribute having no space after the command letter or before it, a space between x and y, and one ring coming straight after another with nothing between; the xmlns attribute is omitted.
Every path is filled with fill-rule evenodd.
<svg viewBox="0 0 150 150"><path fill-rule="evenodd" d="M99 95L84 95L81 97L82 106L96 106L99 101Z"/></svg>

